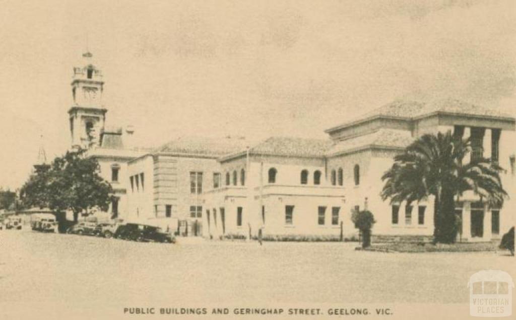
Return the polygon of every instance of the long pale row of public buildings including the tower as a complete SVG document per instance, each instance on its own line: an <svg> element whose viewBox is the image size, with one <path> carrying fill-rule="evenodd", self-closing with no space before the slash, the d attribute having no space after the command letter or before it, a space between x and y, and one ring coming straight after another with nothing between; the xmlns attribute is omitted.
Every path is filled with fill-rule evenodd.
<svg viewBox="0 0 516 320"><path fill-rule="evenodd" d="M72 147L88 148L117 199L109 211L127 220L151 219L188 235L356 236L351 210L372 211L376 235L431 236L431 199L383 201L381 176L393 157L424 133L471 137L472 157L495 159L507 169L504 188L514 194L515 119L460 102L394 102L330 128L329 139L272 137L181 138L156 149L127 145L134 130L107 129L100 70L84 55L74 68L69 110ZM514 224L508 200L490 208L473 193L456 204L463 240L498 239ZM178 226L178 221L180 225ZM342 227L341 227L342 226ZM342 231L341 231L342 230Z"/></svg>

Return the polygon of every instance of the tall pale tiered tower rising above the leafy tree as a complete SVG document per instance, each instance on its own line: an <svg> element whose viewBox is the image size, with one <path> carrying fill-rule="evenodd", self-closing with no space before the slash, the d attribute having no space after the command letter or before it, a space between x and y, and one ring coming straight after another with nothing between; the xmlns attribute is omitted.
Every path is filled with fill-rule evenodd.
<svg viewBox="0 0 516 320"><path fill-rule="evenodd" d="M107 109L102 105L104 81L92 62L93 55L83 54L83 66L73 68L73 105L68 110L72 148L92 148L99 144Z"/></svg>

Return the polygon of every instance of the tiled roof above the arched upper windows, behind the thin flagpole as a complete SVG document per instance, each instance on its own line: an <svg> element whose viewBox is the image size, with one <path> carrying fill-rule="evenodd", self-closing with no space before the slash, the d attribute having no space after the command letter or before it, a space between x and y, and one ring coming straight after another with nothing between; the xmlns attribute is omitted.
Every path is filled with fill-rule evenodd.
<svg viewBox="0 0 516 320"><path fill-rule="evenodd" d="M275 156L322 157L332 144L330 140L271 137L253 146L250 152Z"/></svg>

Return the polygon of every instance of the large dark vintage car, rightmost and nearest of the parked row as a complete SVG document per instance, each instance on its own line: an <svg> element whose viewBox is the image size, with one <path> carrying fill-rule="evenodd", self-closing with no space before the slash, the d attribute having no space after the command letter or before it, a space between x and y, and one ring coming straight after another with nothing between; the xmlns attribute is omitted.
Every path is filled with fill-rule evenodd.
<svg viewBox="0 0 516 320"><path fill-rule="evenodd" d="M162 228L141 223L127 223L118 227L115 237L140 242L175 243L175 237Z"/></svg>

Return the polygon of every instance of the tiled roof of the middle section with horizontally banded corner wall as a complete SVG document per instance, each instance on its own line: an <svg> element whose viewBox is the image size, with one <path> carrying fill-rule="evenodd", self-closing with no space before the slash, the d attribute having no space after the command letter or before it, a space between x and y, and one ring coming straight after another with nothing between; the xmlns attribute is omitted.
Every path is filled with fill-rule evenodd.
<svg viewBox="0 0 516 320"><path fill-rule="evenodd" d="M241 138L183 137L158 147L155 152L221 157L245 150L247 144Z"/></svg>

